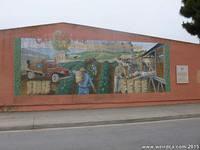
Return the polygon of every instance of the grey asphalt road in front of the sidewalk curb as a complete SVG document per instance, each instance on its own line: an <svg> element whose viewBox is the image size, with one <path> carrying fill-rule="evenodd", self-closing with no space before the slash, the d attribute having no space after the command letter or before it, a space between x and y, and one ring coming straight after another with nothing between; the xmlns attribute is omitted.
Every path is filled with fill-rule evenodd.
<svg viewBox="0 0 200 150"><path fill-rule="evenodd" d="M0 132L0 150L164 150L170 146L200 149L200 118Z"/></svg>

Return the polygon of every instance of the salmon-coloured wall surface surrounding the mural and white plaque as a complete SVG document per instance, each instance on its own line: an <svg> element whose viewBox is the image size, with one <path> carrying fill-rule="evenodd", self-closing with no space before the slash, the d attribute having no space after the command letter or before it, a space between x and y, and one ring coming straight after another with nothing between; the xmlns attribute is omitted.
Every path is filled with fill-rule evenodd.
<svg viewBox="0 0 200 150"><path fill-rule="evenodd" d="M123 40L138 42L159 42L169 45L170 48L170 80L171 92L168 93L141 93L141 94L105 94L87 96L14 96L14 40L21 37L51 38L56 30L62 30L70 35L71 39L78 40ZM0 106L31 107L37 106L51 109L67 108L67 105L77 106L88 104L91 108L106 107L105 104L128 105L129 103L174 103L175 101L200 101L200 84L197 83L197 71L200 70L200 46L173 40L154 38L106 29L99 29L74 24L52 24L35 27L0 31ZM189 66L189 83L176 83L176 65ZM93 104L93 105L92 105ZM98 104L98 105L97 105ZM55 108L55 109L56 109ZM20 109L19 109L20 110ZM30 108L33 110L33 108Z"/></svg>

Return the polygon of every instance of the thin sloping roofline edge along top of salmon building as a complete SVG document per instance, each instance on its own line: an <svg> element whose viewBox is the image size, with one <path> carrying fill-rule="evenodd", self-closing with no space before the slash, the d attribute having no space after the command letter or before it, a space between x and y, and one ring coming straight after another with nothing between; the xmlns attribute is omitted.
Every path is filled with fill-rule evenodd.
<svg viewBox="0 0 200 150"><path fill-rule="evenodd" d="M101 28L101 27L94 27L94 26L89 26L89 25L81 25L81 24L67 23L67 22L56 22L56 23L47 23L47 24L39 24L39 25L30 25L30 26L14 27L14 28L8 28L8 29L0 29L0 32L1 32L1 31L9 31L9 30L17 30L17 29L27 29L27 28L32 28L32 27L53 26L53 25L57 25L57 24L68 24L68 25L82 26L82 27L87 27L87 28L94 28L94 29L100 29L100 30L107 30L107 31L113 31L113 32L118 32L118 33L126 33L126 34L133 34L133 35L137 35L137 36L145 36L145 37L156 38L156 39L160 39L160 40L168 40L168 41L174 41L174 42L179 42L179 43L186 43L186 44L199 45L198 43L192 43L192 42L188 42L188 41L181 41L181 40L175 40L175 39L169 39L169 38L156 37L156 36L151 36L151 35L146 35L146 34L131 33L131 32L126 32L126 31L113 30L113 29L106 29L106 28Z"/></svg>

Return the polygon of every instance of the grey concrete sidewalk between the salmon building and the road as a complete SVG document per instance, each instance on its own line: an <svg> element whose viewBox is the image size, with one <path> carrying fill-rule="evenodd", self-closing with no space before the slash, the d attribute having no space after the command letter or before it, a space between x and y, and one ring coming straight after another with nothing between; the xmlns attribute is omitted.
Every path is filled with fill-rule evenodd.
<svg viewBox="0 0 200 150"><path fill-rule="evenodd" d="M94 126L200 117L200 103L96 110L0 113L0 131Z"/></svg>

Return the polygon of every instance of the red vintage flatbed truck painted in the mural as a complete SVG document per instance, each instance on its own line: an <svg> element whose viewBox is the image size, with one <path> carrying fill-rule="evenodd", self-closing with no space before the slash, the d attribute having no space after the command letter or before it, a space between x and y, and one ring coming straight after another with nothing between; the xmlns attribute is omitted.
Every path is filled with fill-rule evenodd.
<svg viewBox="0 0 200 150"><path fill-rule="evenodd" d="M26 75L28 79L43 77L52 82L58 82L61 78L69 76L69 70L60 67L55 60L42 60L40 62L31 62L27 60Z"/></svg>

